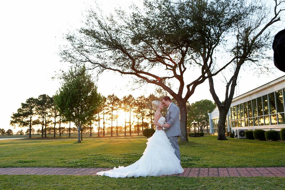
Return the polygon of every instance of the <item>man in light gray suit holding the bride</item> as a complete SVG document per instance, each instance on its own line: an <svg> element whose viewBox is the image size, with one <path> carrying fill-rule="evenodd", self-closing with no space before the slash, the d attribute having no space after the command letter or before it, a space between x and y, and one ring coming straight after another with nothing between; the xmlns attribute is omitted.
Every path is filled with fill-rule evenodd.
<svg viewBox="0 0 285 190"><path fill-rule="evenodd" d="M167 107L166 114L166 124L170 124L169 128L157 127L158 130L164 129L166 131L166 136L170 140L170 143L175 150L175 155L180 160L180 150L178 145L178 136L181 136L180 121L179 121L179 108L177 105L171 102L169 96L164 96L162 99L162 104Z"/></svg>

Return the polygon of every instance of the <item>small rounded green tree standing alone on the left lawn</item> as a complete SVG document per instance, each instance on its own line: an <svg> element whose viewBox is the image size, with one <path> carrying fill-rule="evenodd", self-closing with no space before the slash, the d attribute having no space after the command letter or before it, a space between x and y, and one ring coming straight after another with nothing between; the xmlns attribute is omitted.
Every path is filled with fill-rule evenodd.
<svg viewBox="0 0 285 190"><path fill-rule="evenodd" d="M59 113L76 124L78 142L81 142L80 129L96 114L101 103L101 95L97 93L97 87L85 66L71 67L68 72L63 73L62 79L54 101Z"/></svg>

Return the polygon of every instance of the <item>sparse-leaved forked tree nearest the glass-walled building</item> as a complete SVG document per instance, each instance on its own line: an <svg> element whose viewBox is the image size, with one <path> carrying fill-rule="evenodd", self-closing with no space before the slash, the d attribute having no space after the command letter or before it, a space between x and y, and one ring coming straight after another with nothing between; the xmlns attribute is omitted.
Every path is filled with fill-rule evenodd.
<svg viewBox="0 0 285 190"><path fill-rule="evenodd" d="M235 92L237 79L240 69L243 65L251 68L269 69L267 64L262 64L263 60L270 61L267 50L271 47L273 38L271 29L273 24L280 21L280 15L284 9L280 9L285 1L267 1L263 4L259 0L240 1L238 20L233 20L231 32L227 35L222 35L223 25L226 18L223 15L216 15L215 11L226 7L230 4L229 1L219 1L219 4L214 4L211 1L201 1L202 9L196 10L197 20L203 23L200 26L202 32L199 33L201 39L201 48L195 50L197 57L192 58L197 64L205 66L207 75L209 76L210 93L219 109L218 122L218 140L227 140L225 136L225 122L227 113ZM270 9L268 4L274 3L273 9ZM230 10L229 11L237 11ZM205 14L206 13L206 14ZM216 26L216 27L213 27ZM231 39L231 40L229 40ZM213 42L213 43L212 43ZM222 42L222 43L219 43ZM220 45L221 44L221 45ZM224 75L225 78L225 96L219 98L217 93L221 88L214 88L213 73L215 69L211 68L212 64L224 65L224 60L217 59L217 56L228 54L230 68L233 68L232 75ZM272 60L272 58L271 58ZM227 64L228 64L227 63ZM229 72L228 72L229 73ZM252 73L254 74L254 73Z"/></svg>

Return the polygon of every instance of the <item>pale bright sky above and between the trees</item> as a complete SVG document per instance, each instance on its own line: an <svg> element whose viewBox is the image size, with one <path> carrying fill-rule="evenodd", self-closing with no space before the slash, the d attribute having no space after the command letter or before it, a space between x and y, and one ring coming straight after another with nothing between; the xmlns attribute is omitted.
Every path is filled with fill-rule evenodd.
<svg viewBox="0 0 285 190"><path fill-rule="evenodd" d="M99 7L106 14L112 13L115 8L123 7L128 10L132 3L142 5L141 0L98 0ZM38 97L40 94L52 96L60 87L59 80L52 77L60 69L66 70L67 63L61 62L59 46L64 43L63 36L82 26L82 14L95 1L0 1L0 128L13 129L9 126L10 117L29 97ZM280 23L274 34L284 29L284 22ZM272 56L273 51L268 53ZM284 75L278 71L273 62L269 62L271 73L257 76L254 72L243 71L238 83L236 96L261 86L269 81ZM159 72L159 71L158 71ZM189 72L186 80L191 82L195 72ZM148 96L154 93L156 86L134 85L132 78L121 76L114 72L105 72L97 81L98 91L107 96L116 94L119 98L133 94ZM218 95L223 97L224 85L217 79L215 88L221 89ZM212 99L208 81L199 85L189 102L201 99ZM13 129L17 131L16 129Z"/></svg>

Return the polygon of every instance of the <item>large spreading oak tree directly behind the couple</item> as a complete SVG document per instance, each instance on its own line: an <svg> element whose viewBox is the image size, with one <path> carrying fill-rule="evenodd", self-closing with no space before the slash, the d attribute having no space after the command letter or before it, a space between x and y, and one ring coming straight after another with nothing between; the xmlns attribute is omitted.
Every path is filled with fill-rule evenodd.
<svg viewBox="0 0 285 190"><path fill-rule="evenodd" d="M100 10L91 9L85 26L66 35L69 45L61 50L65 61L89 63L97 72L112 70L134 76L134 83L151 83L160 86L175 98L180 109L181 141L188 141L186 132L186 102L197 85L216 75L228 64L206 75L211 68L207 61L196 63L191 58L201 47L201 40L211 46L219 40L201 39L200 18L196 10L203 9L208 1L145 0L143 10L132 6L132 12L116 10L116 15L104 16ZM212 2L212 1L209 1ZM213 3L219 4L219 0ZM222 2L222 1L221 1ZM223 35L239 19L238 3L227 1L215 7L212 27L221 26L217 35ZM219 18L215 21L215 18ZM207 26L208 27L208 26ZM205 50L206 57L213 53ZM198 76L185 79L186 69L194 65ZM212 65L214 66L214 65ZM167 81L178 83L174 90Z"/></svg>

